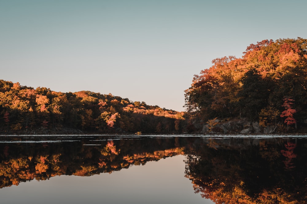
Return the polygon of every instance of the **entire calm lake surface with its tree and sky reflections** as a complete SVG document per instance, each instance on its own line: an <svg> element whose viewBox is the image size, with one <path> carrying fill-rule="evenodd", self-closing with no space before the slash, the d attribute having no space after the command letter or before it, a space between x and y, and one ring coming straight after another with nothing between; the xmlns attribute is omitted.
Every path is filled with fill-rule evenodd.
<svg viewBox="0 0 307 204"><path fill-rule="evenodd" d="M1 203L307 203L307 139L0 136Z"/></svg>

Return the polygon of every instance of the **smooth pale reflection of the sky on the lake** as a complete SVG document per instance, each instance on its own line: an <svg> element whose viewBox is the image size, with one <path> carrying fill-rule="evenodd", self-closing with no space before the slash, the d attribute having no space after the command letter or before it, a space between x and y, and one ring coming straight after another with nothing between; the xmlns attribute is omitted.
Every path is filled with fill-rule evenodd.
<svg viewBox="0 0 307 204"><path fill-rule="evenodd" d="M195 194L184 177L185 156L89 177L56 176L0 189L1 203L213 203Z"/></svg>

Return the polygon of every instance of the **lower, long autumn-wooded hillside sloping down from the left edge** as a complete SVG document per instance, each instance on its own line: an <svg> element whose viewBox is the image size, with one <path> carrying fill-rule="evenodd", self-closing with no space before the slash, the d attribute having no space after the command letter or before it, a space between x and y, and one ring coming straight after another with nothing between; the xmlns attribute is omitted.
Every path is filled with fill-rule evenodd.
<svg viewBox="0 0 307 204"><path fill-rule="evenodd" d="M91 91L62 93L0 80L0 134L181 133L184 112Z"/></svg>

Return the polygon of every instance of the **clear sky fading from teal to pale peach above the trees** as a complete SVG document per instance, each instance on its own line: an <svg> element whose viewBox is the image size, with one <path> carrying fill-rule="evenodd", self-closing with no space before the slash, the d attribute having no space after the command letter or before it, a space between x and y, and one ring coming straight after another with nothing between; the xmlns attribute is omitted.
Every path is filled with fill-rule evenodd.
<svg viewBox="0 0 307 204"><path fill-rule="evenodd" d="M184 111L193 75L264 39L307 38L307 1L0 0L0 79Z"/></svg>

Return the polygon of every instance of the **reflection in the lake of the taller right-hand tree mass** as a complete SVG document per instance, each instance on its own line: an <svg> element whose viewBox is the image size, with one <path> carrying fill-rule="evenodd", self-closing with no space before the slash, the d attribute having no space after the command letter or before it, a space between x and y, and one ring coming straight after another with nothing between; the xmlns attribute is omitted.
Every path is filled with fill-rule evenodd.
<svg viewBox="0 0 307 204"><path fill-rule="evenodd" d="M305 139L211 140L194 141L186 151L186 177L202 197L216 203L307 202Z"/></svg>

